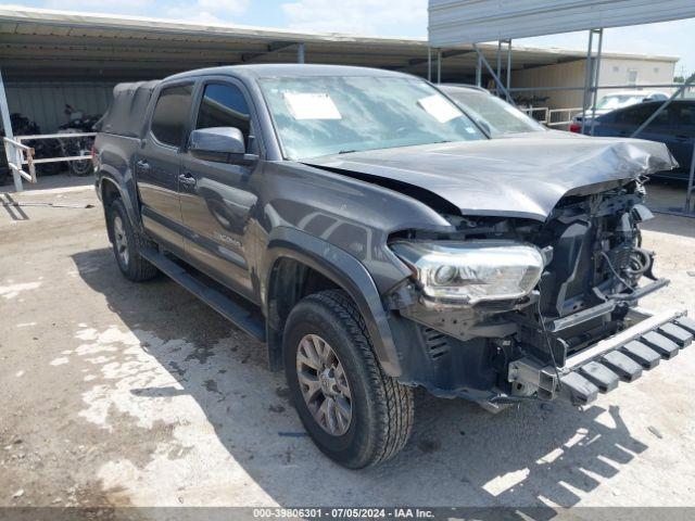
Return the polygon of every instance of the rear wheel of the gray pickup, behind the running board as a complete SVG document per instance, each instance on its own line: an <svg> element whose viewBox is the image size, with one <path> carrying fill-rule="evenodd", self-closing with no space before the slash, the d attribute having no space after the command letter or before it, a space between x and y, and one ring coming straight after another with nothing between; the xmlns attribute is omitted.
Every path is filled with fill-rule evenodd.
<svg viewBox="0 0 695 521"><path fill-rule="evenodd" d="M109 237L112 239L113 253L121 272L134 282L150 280L157 276L156 267L140 255L143 247L156 247L156 244L138 233L130 224L123 202L116 199L109 206ZM125 245L127 255L123 255Z"/></svg>

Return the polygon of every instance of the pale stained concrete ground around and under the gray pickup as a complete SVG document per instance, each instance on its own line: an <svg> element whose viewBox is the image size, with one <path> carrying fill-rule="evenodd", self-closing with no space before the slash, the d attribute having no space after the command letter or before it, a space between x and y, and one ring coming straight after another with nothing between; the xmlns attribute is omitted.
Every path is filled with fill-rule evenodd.
<svg viewBox="0 0 695 521"><path fill-rule="evenodd" d="M0 506L695 505L695 347L583 409L418 393L406 449L344 470L263 345L166 278L121 276L76 185L11 196L94 207L0 208ZM644 243L672 280L644 306L694 315L695 220L658 215Z"/></svg>

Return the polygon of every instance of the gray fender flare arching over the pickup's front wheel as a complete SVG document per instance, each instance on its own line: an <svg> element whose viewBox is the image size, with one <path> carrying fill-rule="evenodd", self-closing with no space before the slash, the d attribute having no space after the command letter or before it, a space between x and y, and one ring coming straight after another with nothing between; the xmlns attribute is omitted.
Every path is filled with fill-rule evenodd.
<svg viewBox="0 0 695 521"><path fill-rule="evenodd" d="M270 278L280 258L298 260L342 288L365 319L375 354L383 371L393 378L401 376L401 360L381 296L367 268L356 257L295 228L275 228L266 254L266 306L271 287Z"/></svg>

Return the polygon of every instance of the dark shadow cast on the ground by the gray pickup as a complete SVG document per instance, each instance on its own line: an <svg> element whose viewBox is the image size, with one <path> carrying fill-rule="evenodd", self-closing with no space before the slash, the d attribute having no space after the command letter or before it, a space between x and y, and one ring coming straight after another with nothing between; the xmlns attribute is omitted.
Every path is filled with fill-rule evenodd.
<svg viewBox="0 0 695 521"><path fill-rule="evenodd" d="M517 512L505 519L552 519L557 512L546 505L571 507L594 491L607 494L603 482L647 449L618 407L582 411L528 403L493 416L418 392L406 449L381 467L349 471L306 437L287 402L283 377L264 367L262 344L165 278L124 280L108 249L73 259L83 280L137 336L136 347L175 382L132 385L128 399L192 397L216 440L190 442L194 453L188 447L181 457L198 458L197 467L210 458L217 473L211 468L203 475L224 481L225 466L235 465L231 456L280 506L514 507ZM212 454L219 444L227 461ZM233 483L239 480L237 474Z"/></svg>

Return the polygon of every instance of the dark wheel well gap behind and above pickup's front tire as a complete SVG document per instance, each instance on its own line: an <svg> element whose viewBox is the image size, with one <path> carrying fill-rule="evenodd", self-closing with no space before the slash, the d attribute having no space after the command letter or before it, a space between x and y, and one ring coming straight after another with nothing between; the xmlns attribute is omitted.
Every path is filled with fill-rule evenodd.
<svg viewBox="0 0 695 521"><path fill-rule="evenodd" d="M342 289L321 272L300 260L279 258L270 275L268 288L268 360L270 369L279 370L282 365L282 330L287 317L294 305L307 295L324 290Z"/></svg>

